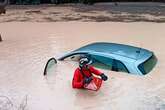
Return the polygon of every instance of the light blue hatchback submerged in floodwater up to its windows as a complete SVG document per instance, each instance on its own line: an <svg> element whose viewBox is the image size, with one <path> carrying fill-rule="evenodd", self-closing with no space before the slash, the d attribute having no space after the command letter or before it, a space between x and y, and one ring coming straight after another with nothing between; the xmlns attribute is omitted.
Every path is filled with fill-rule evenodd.
<svg viewBox="0 0 165 110"><path fill-rule="evenodd" d="M139 47L97 42L83 46L74 50L58 60L77 59L88 57L91 64L109 69L112 71L122 71L135 75L146 75L157 63L154 53Z"/></svg>

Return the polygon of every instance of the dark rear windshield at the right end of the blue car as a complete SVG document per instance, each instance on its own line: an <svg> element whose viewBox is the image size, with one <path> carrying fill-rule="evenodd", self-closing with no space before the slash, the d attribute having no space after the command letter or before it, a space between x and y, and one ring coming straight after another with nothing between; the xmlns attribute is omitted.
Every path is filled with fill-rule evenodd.
<svg viewBox="0 0 165 110"><path fill-rule="evenodd" d="M146 75L154 68L156 63L157 63L157 58L155 57L155 55L152 55L148 60L140 64L138 68L143 73L143 75Z"/></svg>

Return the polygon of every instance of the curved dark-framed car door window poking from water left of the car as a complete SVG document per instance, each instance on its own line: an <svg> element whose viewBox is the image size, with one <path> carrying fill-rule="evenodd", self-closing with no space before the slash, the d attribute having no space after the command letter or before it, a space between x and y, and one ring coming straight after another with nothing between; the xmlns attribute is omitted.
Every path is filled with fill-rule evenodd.
<svg viewBox="0 0 165 110"><path fill-rule="evenodd" d="M57 64L57 60L55 58L50 58L45 66L44 69L44 76L47 75L48 73L53 72L54 66Z"/></svg>

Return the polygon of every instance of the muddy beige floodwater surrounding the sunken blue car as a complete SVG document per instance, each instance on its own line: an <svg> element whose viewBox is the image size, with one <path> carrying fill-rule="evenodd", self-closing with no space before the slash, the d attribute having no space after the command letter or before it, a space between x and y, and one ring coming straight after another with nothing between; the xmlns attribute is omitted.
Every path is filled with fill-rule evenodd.
<svg viewBox="0 0 165 110"><path fill-rule="evenodd" d="M0 33L0 110L165 110L164 23L11 22ZM158 63L146 76L101 70L97 92L72 89L73 61L43 76L49 58L93 42L146 48Z"/></svg>

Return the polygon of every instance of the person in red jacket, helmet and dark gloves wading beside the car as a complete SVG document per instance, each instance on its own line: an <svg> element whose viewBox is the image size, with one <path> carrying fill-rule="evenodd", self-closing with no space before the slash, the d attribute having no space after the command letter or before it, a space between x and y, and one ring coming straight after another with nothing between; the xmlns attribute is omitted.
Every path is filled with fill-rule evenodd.
<svg viewBox="0 0 165 110"><path fill-rule="evenodd" d="M79 67L75 70L73 76L73 88L84 88L85 84L89 84L93 80L93 74L100 76L104 81L108 79L104 73L89 65L89 62L89 59L86 57L80 59Z"/></svg>

